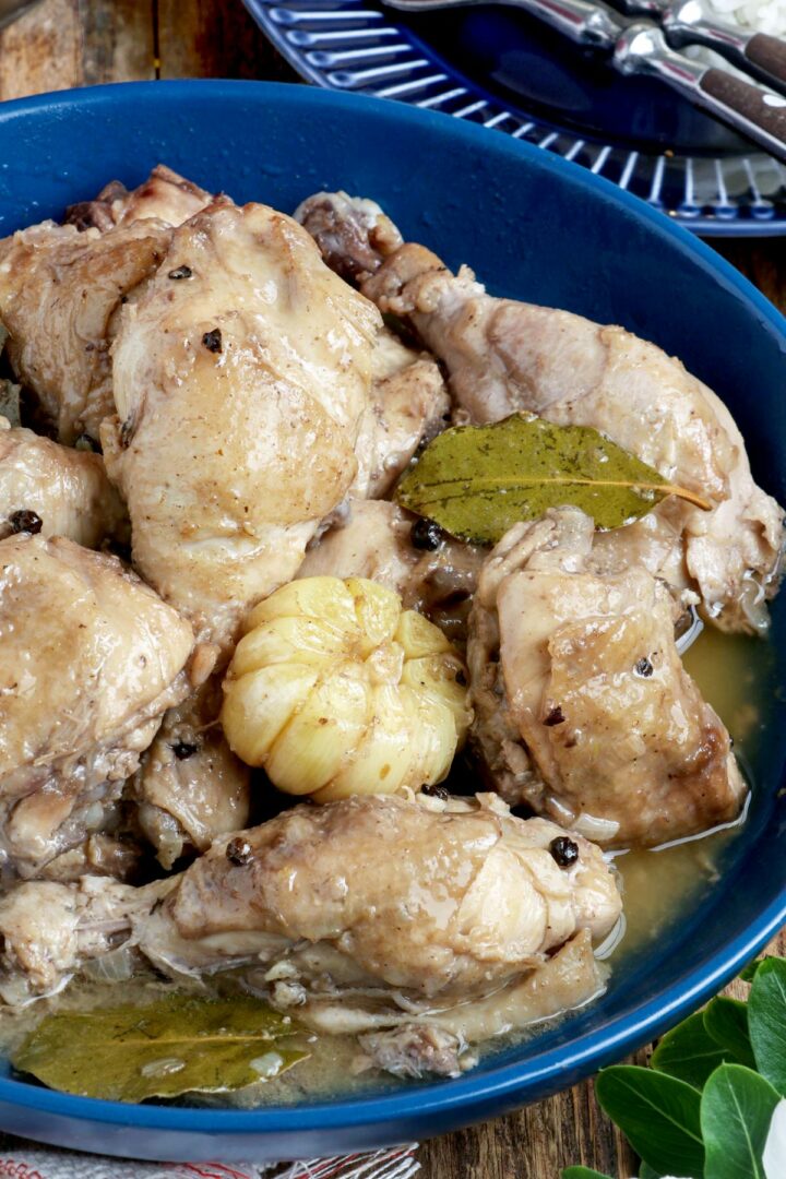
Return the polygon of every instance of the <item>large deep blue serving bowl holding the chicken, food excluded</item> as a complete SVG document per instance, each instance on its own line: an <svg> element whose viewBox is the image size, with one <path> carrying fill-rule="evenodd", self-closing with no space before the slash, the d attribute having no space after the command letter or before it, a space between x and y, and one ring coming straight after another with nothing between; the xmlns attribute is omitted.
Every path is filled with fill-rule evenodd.
<svg viewBox="0 0 786 1179"><path fill-rule="evenodd" d="M527 144L351 94L183 81L8 103L0 160L4 235L59 217L110 178L137 184L159 160L237 200L283 210L317 189L376 197L405 236L469 263L491 291L621 323L679 355L728 402L754 474L786 501L786 321L666 217ZM786 653L784 599L774 643ZM784 698L775 693L753 805L720 882L623 959L603 999L531 1041L460 1080L252 1112L74 1098L12 1080L6 1068L0 1125L136 1158L302 1158L438 1134L619 1060L719 990L786 921Z"/></svg>

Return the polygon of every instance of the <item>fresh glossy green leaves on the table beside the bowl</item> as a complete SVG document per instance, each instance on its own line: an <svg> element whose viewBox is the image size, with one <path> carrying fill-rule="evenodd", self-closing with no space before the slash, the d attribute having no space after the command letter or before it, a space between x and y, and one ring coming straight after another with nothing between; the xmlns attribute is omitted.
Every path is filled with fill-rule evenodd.
<svg viewBox="0 0 786 1179"><path fill-rule="evenodd" d="M742 971L747 1002L719 996L668 1032L649 1068L613 1065L595 1094L640 1155L640 1179L768 1179L764 1151L786 1098L786 959ZM567 1167L562 1179L608 1179Z"/></svg>

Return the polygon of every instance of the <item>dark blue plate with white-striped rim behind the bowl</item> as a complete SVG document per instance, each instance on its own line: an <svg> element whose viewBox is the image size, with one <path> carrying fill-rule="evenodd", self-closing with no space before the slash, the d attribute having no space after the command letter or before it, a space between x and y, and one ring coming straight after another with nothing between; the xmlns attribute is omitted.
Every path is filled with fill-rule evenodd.
<svg viewBox="0 0 786 1179"><path fill-rule="evenodd" d="M522 12L404 15L374 0L245 0L309 81L392 98L557 152L705 236L786 232L784 167L648 78Z"/></svg>

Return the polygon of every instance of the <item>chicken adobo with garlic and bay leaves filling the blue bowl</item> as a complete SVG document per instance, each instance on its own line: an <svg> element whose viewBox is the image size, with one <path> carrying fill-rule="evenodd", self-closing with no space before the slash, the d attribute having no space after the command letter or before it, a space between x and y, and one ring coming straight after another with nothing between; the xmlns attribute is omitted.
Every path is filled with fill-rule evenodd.
<svg viewBox="0 0 786 1179"><path fill-rule="evenodd" d="M679 360L163 165L0 242L0 328L20 1074L187 996L277 1029L253 1100L457 1076L707 883L784 509Z"/></svg>

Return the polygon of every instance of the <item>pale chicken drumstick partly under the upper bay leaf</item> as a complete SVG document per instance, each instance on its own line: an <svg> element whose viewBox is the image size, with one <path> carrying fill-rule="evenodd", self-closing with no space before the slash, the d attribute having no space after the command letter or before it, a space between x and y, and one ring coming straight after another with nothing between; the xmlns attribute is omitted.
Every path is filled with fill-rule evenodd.
<svg viewBox="0 0 786 1179"><path fill-rule="evenodd" d="M361 290L443 361L462 420L526 410L592 426L712 502L704 512L669 498L606 534L609 571L643 564L676 593L699 593L722 630L766 627L762 599L778 588L784 512L755 485L740 432L707 386L622 328L494 298L468 268L454 275L421 245L395 248L390 231L379 238L369 230L384 215L368 202L324 192L304 202L298 217L321 243L331 203L330 257L343 249L356 256L352 243L365 233Z"/></svg>

